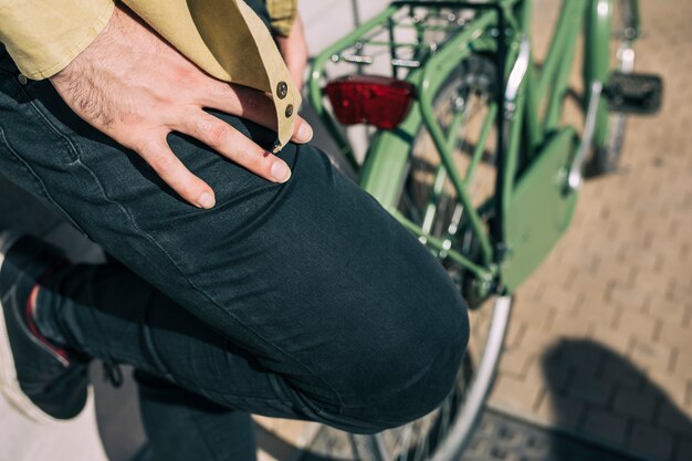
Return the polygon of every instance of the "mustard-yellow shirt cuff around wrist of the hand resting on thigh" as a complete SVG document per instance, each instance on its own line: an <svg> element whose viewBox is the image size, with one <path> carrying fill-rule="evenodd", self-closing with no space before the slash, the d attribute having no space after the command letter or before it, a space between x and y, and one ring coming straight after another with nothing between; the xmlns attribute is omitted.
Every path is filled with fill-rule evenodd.
<svg viewBox="0 0 692 461"><path fill-rule="evenodd" d="M98 35L114 0L0 0L0 42L29 78L62 71Z"/></svg>

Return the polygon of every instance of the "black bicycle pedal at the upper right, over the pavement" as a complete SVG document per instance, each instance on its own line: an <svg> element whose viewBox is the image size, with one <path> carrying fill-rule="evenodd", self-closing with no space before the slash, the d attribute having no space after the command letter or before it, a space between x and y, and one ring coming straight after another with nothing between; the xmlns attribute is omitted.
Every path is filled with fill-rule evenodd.
<svg viewBox="0 0 692 461"><path fill-rule="evenodd" d="M651 74L615 72L605 87L610 112L656 114L663 99L663 80Z"/></svg>

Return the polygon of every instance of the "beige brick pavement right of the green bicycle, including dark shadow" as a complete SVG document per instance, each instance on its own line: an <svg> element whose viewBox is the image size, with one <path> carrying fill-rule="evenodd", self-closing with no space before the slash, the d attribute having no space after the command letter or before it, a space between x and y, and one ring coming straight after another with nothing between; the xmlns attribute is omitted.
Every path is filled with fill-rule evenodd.
<svg viewBox="0 0 692 461"><path fill-rule="evenodd" d="M559 2L536 1L537 20ZM692 460L692 2L641 1L662 112L518 291L491 406L656 460Z"/></svg>

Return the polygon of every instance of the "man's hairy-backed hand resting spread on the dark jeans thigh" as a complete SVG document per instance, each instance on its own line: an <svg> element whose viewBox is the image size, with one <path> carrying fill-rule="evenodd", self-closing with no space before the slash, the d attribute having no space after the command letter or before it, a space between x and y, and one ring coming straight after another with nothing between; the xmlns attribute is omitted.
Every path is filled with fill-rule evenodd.
<svg viewBox="0 0 692 461"><path fill-rule="evenodd" d="M129 10L116 6L104 31L51 83L77 115L139 154L197 207L212 208L214 193L170 150L166 136L174 130L271 181L291 177L282 159L202 109L222 111L275 129L270 97L209 76ZM298 118L293 140L306 143L312 133Z"/></svg>

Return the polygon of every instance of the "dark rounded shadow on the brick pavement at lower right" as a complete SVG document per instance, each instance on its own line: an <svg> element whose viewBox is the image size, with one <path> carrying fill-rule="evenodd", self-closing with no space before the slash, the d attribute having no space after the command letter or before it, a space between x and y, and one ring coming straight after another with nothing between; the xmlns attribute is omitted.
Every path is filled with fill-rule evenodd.
<svg viewBox="0 0 692 461"><path fill-rule="evenodd" d="M692 459L682 442L692 440L692 421L626 357L588 339L565 339L544 354L542 365L546 404L565 432L644 459ZM552 455L581 459L564 440L551 440Z"/></svg>

